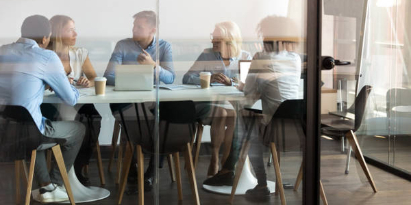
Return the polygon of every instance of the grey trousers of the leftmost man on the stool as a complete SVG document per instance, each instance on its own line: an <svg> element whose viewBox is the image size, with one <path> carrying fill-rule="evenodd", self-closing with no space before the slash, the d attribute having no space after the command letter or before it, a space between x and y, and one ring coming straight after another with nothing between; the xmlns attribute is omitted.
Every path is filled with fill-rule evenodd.
<svg viewBox="0 0 411 205"><path fill-rule="evenodd" d="M60 121L51 122L46 120L44 135L51 138L64 138L66 143L60 145L64 159L66 170L73 166L77 153L82 146L86 127L81 122L76 121ZM38 183L53 182L55 184L62 184L62 177L55 165L52 165L50 172L47 170L45 150L51 148L55 144L42 144L37 148L36 166L34 173Z"/></svg>

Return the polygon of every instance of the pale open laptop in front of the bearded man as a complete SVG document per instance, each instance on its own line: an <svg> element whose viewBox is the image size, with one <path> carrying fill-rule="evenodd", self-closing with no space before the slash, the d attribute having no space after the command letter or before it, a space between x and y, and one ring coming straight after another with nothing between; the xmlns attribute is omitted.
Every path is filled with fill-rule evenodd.
<svg viewBox="0 0 411 205"><path fill-rule="evenodd" d="M114 90L153 90L153 73L152 65L118 65Z"/></svg>

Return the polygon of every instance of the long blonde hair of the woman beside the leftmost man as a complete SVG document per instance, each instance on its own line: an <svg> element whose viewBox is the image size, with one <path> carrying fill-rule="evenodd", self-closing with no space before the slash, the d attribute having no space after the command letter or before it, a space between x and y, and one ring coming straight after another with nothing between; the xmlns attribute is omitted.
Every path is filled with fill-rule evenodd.
<svg viewBox="0 0 411 205"><path fill-rule="evenodd" d="M50 18L50 24L51 24L51 38L50 38L50 43L47 49L55 51L55 53L59 54L60 51L62 51L63 48L63 42L62 42L62 33L63 33L63 27L69 23L70 21L74 20L70 18L69 16L64 16L64 15L55 15Z"/></svg>

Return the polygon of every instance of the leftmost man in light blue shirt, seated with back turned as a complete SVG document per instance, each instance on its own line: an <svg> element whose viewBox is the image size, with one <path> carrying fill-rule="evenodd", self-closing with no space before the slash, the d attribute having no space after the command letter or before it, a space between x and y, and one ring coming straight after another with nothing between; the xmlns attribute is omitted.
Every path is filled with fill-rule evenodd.
<svg viewBox="0 0 411 205"><path fill-rule="evenodd" d="M75 105L79 92L69 83L62 62L53 51L46 50L51 26L45 16L29 16L21 26L21 38L0 47L0 103L20 105L32 115L39 131L51 138L64 138L62 154L71 167L85 133L79 122L51 122L42 117L40 105L45 89L51 89L68 105ZM38 147L35 174L40 183L40 202L69 200L58 169L47 171L45 149Z"/></svg>

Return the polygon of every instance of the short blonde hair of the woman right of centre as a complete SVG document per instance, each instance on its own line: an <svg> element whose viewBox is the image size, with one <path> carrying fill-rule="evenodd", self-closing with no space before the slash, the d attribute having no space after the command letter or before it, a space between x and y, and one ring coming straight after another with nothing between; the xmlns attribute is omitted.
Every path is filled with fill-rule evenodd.
<svg viewBox="0 0 411 205"><path fill-rule="evenodd" d="M238 57L241 54L241 31L240 27L232 21L216 23L216 31L221 32L221 38L227 45L227 55L229 57Z"/></svg>

